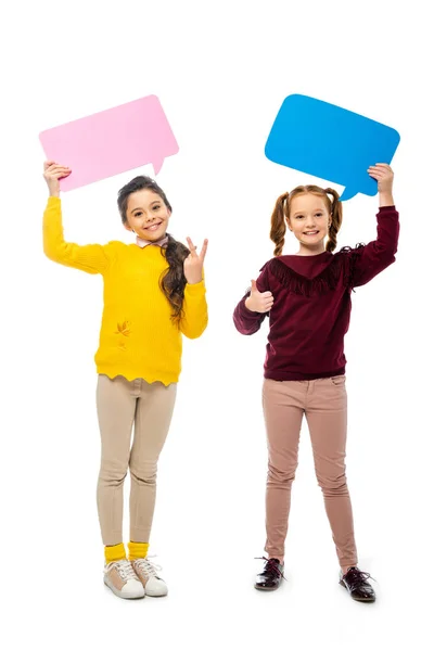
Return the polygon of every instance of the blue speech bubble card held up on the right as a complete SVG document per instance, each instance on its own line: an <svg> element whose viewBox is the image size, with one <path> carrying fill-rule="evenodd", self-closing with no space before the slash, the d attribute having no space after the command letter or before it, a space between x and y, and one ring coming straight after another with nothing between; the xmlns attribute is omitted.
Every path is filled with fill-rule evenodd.
<svg viewBox="0 0 434 651"><path fill-rule="evenodd" d="M307 95L289 95L265 146L269 161L345 186L341 201L374 196L376 181L367 169L390 164L399 133L358 113Z"/></svg>

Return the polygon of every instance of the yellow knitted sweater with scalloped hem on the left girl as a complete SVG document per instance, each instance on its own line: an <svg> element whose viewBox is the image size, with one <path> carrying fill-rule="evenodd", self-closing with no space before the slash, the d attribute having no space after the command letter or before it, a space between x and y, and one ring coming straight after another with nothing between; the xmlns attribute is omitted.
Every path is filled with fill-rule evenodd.
<svg viewBox="0 0 434 651"><path fill-rule="evenodd" d="M43 251L55 263L101 273L104 309L97 370L110 378L142 378L165 385L181 372L182 336L201 336L208 321L205 283L187 284L180 324L159 289L168 263L159 246L108 242L80 246L63 239L61 200L50 196L43 214Z"/></svg>

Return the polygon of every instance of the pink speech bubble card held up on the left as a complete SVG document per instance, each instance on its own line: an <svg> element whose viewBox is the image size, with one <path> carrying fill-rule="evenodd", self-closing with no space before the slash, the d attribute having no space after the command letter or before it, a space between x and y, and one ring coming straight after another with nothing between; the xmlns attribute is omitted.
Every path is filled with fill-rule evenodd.
<svg viewBox="0 0 434 651"><path fill-rule="evenodd" d="M64 192L152 163L157 175L179 151L156 95L148 95L39 133L48 161L71 167Z"/></svg>

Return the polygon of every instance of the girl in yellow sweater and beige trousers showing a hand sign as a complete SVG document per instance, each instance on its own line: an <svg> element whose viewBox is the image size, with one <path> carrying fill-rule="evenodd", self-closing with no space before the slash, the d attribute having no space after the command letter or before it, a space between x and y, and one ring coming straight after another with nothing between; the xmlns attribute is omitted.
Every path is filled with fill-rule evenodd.
<svg viewBox="0 0 434 651"><path fill-rule="evenodd" d="M182 334L201 336L207 326L202 251L167 231L171 206L149 177L118 192L125 228L136 243L114 241L79 246L63 239L60 179L68 167L44 163L49 200L43 215L43 251L53 261L101 273L104 308L97 408L101 432L98 513L104 544L104 583L115 595L137 599L167 593L146 558L155 505L156 469L175 406L181 371ZM135 436L130 444L132 424ZM123 485L130 471L130 541L123 544Z"/></svg>

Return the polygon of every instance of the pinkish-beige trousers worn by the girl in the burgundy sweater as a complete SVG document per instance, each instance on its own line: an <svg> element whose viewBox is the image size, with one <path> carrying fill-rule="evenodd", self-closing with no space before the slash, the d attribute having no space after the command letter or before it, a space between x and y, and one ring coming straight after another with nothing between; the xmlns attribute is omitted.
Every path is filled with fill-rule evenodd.
<svg viewBox="0 0 434 651"><path fill-rule="evenodd" d="M345 376L265 380L263 407L268 441L265 550L283 561L291 486L298 462L303 416L309 427L318 484L324 497L341 566L357 564L352 502L345 476L347 398Z"/></svg>

